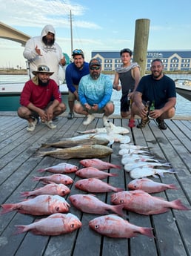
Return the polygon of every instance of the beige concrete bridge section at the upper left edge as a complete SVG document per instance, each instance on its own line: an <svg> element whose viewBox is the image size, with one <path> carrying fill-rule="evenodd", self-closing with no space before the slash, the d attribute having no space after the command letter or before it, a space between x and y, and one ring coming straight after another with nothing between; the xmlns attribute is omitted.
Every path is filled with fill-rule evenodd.
<svg viewBox="0 0 191 256"><path fill-rule="evenodd" d="M24 46L27 40L30 39L30 36L21 33L21 31L16 30L3 22L0 22L0 38L19 42L21 43L21 46Z"/></svg>

